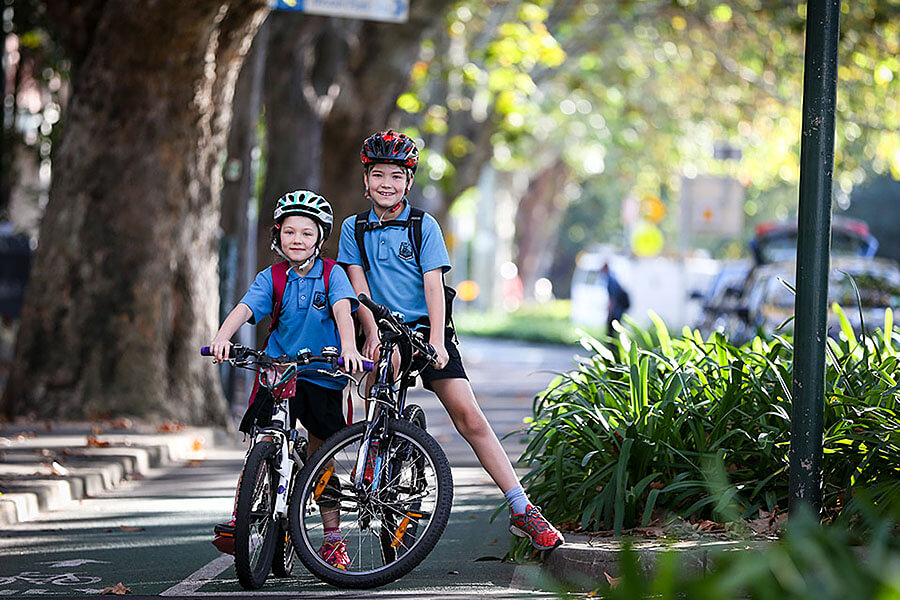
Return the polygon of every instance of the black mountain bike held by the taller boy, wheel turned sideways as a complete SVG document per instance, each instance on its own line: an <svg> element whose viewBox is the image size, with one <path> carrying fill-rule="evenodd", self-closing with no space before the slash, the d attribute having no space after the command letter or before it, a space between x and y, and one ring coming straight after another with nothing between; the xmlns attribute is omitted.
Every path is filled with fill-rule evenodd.
<svg viewBox="0 0 900 600"><path fill-rule="evenodd" d="M437 544L453 503L447 457L426 433L422 409L406 404L407 388L433 362L434 348L384 306L364 294L359 300L374 314L381 339L366 420L335 433L309 458L289 510L300 560L319 579L343 588L372 588L411 571ZM340 516L346 568L319 553L326 512Z"/></svg>

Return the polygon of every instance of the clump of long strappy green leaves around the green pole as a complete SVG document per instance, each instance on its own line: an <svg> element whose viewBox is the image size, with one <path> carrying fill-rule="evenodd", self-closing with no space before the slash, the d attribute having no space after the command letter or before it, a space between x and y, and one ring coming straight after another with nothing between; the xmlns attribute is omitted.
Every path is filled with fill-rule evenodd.
<svg viewBox="0 0 900 600"><path fill-rule="evenodd" d="M843 317L843 315L841 315ZM535 398L522 460L529 495L586 530L646 526L660 515L734 520L787 507L792 342L736 347L721 333L678 338L627 321ZM835 517L865 486L900 497L900 329L828 340L824 497Z"/></svg>

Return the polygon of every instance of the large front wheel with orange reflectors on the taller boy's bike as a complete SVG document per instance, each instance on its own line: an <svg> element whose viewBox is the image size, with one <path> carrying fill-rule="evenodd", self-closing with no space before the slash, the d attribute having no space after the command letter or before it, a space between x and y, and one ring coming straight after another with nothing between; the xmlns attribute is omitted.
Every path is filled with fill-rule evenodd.
<svg viewBox="0 0 900 600"><path fill-rule="evenodd" d="M300 472L291 498L297 555L319 579L343 588L372 588L399 579L434 548L450 518L450 464L428 433L389 419L373 466L354 487L365 423L328 439ZM325 527L340 527L346 559L325 547ZM333 548L333 544L329 546Z"/></svg>

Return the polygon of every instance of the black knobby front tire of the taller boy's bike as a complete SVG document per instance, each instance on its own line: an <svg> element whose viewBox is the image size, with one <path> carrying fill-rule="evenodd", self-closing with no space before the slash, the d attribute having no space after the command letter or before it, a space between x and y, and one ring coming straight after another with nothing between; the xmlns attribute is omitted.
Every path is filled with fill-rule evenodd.
<svg viewBox="0 0 900 600"><path fill-rule="evenodd" d="M398 552L398 555L393 560L385 560L383 565L374 568L360 566L357 571L354 561L366 559L366 553L362 548L363 544L371 543L374 546L377 543L381 547L383 529L386 527L393 528L396 525L396 521L391 521L390 519L382 522L381 515L390 512L410 514L409 507L415 504L416 501L420 505L422 504L421 498L415 500L415 494L418 494L420 490L412 491L414 500L410 504L403 504L400 500L393 504L390 501L384 501L384 497L381 494L387 493L384 490L400 489L399 481L396 485L386 485L376 494L370 496L369 498L375 498L375 500L372 500L373 504L371 507L365 505L364 501L354 500L352 494L355 494L356 491L353 490L352 485L349 483L352 476L348 476L347 468L340 468L339 465L344 465L347 462L342 458L343 454L355 456L356 452L350 452L347 448L358 448L358 445L363 440L365 431L366 423L357 423L336 433L323 444L300 472L295 490L296 493L291 498L289 510L291 537L300 560L313 575L326 583L340 588L374 588L395 581L409 573L434 549L450 519L450 507L453 503L453 476L450 471L450 463L447 461L447 457L437 441L416 425L404 420L389 419L387 422L387 433L382 439L382 443L379 444L380 450L387 453L394 452L396 455L399 454L404 445L409 446L415 457L421 458L424 463L427 463L425 471L427 471L428 480L434 487L434 493L427 497L427 510L419 513L417 517L422 520L427 518L427 523L418 523L417 521L416 535L411 543L404 545L403 551ZM384 450L386 448L388 450ZM409 464L411 465L413 462L414 460L410 460ZM410 467L410 470L412 470L412 467ZM365 525L359 527L359 534L356 537L353 537L352 534L347 534L346 539L352 543L358 543L359 549L353 554L356 558L351 558L351 568L346 571L339 570L326 563L319 557L316 548L322 538L318 535L318 530L313 530L313 525L317 525L316 522L321 519L318 514L315 514L318 512L318 505L314 498L319 497L315 495L317 486L320 489L324 486L322 484L323 477L321 476L323 473L328 473L329 477L337 477L340 486L338 488L339 501L337 504L340 510L351 513L355 508L357 512L356 523L353 523L352 519L345 520L342 517L341 525L343 526L347 522L351 526L365 523ZM330 479L327 481L330 481ZM393 480L388 479L387 481ZM354 502L356 502L355 506ZM401 511L397 508L400 506L405 508ZM388 510L381 507L387 507ZM363 510L366 511L365 517L362 515ZM374 530L376 527L381 528L378 531L371 532L377 537L376 541L369 540L371 536L368 531L365 536L362 535L364 530L370 528ZM398 538L399 541L403 539L404 533L397 531L397 535L400 536ZM369 554L369 559L378 560L378 555L374 551L370 550Z"/></svg>

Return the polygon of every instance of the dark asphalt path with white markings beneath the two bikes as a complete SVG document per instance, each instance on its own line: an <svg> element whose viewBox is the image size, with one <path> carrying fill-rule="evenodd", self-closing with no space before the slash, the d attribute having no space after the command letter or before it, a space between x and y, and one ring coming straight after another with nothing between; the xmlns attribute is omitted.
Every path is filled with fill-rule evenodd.
<svg viewBox="0 0 900 600"><path fill-rule="evenodd" d="M570 366L573 354L478 339L463 340L462 352L479 402L501 435L521 427L533 395L553 371ZM135 596L552 597L537 566L499 561L510 541L505 511L491 521L502 495L437 399L416 390L410 401L425 408L429 432L450 458L455 498L437 548L400 581L341 591L313 578L298 561L292 577L270 577L254 594L242 590L231 558L210 544L213 525L232 509L244 452L235 445L0 532L0 597L95 595L119 583ZM505 445L512 457L522 450L515 438Z"/></svg>

